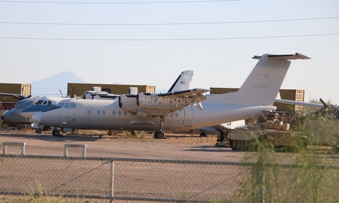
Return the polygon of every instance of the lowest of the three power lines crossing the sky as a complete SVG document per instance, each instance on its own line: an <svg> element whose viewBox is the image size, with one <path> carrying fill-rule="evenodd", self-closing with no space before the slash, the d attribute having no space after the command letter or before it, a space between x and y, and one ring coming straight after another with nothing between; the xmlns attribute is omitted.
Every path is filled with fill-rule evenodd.
<svg viewBox="0 0 339 203"><path fill-rule="evenodd" d="M268 39L285 37L319 37L339 35L339 33L313 34L313 35L281 35L262 37L217 37L217 38L178 38L178 39L76 39L76 38L42 38L42 37L0 37L0 39L35 39L35 40L64 40L64 41L195 41L195 40L226 40L226 39Z"/></svg>

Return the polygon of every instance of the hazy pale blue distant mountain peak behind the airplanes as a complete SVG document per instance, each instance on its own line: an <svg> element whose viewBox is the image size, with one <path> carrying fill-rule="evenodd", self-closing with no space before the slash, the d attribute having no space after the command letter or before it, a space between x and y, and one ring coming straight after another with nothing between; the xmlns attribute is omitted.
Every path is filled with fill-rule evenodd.
<svg viewBox="0 0 339 203"><path fill-rule="evenodd" d="M29 84L32 85L32 95L61 96L60 90L63 94L67 94L67 83L69 82L88 83L73 72L68 71L52 75L42 80L29 82Z"/></svg>

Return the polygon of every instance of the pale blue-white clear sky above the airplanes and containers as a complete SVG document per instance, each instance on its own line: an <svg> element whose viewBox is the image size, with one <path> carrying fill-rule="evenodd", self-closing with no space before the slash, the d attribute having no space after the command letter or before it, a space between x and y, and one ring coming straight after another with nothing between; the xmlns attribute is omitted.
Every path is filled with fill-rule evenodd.
<svg viewBox="0 0 339 203"><path fill-rule="evenodd" d="M240 87L252 56L300 53L311 59L292 61L281 89L339 104L338 8L338 0L0 0L0 82L72 71L91 83L169 89L194 70L191 88Z"/></svg>

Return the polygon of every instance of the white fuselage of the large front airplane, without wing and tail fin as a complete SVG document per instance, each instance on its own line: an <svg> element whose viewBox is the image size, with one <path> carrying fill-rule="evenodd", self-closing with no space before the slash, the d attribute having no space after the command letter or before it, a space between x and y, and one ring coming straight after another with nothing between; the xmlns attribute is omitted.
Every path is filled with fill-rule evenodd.
<svg viewBox="0 0 339 203"><path fill-rule="evenodd" d="M67 104L68 103L68 104ZM202 102L203 110L196 105L186 106L165 116L165 130L201 128L257 118L262 111L275 111L275 106L239 106L234 104L209 104ZM141 117L124 111L114 100L73 99L65 106L52 111L37 112L33 120L57 128L105 129L105 130L159 130L160 117Z"/></svg>

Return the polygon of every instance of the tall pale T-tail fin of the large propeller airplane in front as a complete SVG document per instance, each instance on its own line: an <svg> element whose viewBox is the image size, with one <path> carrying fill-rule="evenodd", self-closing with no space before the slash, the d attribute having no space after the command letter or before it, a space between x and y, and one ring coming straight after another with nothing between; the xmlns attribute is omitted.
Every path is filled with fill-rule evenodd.
<svg viewBox="0 0 339 203"><path fill-rule="evenodd" d="M310 59L302 54L254 56L256 66L234 97L234 104L273 106L291 61Z"/></svg>

